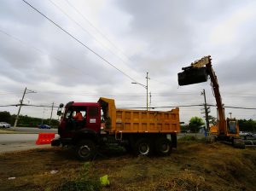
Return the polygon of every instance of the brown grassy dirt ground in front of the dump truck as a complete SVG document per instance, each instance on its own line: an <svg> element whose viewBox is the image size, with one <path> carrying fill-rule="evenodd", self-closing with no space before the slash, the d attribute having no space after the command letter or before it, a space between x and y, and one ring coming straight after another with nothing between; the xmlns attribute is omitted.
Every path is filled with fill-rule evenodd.
<svg viewBox="0 0 256 191"><path fill-rule="evenodd" d="M102 190L256 190L256 149L214 142L178 142L168 157L134 157L123 149L105 150L91 162L65 148L38 148L0 154L0 190L59 190L86 176L108 175ZM69 190L69 189L66 189ZM74 189L73 189L74 190Z"/></svg>

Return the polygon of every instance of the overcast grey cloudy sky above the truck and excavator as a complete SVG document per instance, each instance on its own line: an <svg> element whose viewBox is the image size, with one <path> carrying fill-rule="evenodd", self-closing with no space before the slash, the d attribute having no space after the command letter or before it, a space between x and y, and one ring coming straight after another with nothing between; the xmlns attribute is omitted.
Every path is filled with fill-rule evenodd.
<svg viewBox="0 0 256 191"><path fill-rule="evenodd" d="M146 107L147 72L152 111L202 104L204 89L207 103L215 105L209 80L177 84L182 67L206 55L212 56L224 105L256 107L253 0L0 3L0 111L17 113L18 107L4 106L19 103L25 88L36 92L26 92L25 104L49 107L24 106L20 114L43 119L53 103L102 96L116 107ZM256 109L227 107L225 113L256 120ZM203 118L202 107L180 107L181 121L194 116Z"/></svg>

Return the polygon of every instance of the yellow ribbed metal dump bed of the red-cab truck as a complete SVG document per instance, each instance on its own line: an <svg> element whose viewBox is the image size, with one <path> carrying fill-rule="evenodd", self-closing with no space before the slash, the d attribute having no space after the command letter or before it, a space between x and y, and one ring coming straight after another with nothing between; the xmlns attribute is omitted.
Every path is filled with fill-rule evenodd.
<svg viewBox="0 0 256 191"><path fill-rule="evenodd" d="M100 98L105 130L109 133L177 133L180 132L179 109L143 111L116 109L114 100Z"/></svg>

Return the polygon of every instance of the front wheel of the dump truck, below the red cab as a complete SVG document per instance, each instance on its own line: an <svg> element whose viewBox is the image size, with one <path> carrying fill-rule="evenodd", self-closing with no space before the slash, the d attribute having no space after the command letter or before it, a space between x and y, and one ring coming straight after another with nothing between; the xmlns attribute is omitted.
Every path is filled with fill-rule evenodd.
<svg viewBox="0 0 256 191"><path fill-rule="evenodd" d="M81 160L89 160L95 156L96 146L90 140L82 140L76 146L77 157Z"/></svg>

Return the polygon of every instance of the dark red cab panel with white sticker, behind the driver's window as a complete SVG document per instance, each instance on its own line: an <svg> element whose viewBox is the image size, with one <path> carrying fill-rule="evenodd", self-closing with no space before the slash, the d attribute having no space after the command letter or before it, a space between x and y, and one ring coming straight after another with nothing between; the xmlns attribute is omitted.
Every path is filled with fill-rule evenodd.
<svg viewBox="0 0 256 191"><path fill-rule="evenodd" d="M100 132L101 130L101 110L99 107L90 106L86 113L86 128Z"/></svg>

